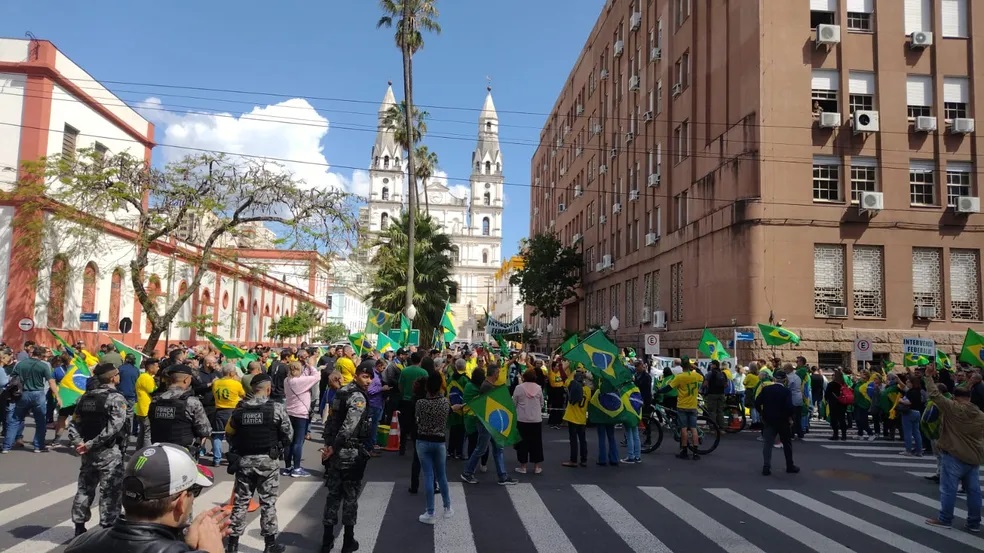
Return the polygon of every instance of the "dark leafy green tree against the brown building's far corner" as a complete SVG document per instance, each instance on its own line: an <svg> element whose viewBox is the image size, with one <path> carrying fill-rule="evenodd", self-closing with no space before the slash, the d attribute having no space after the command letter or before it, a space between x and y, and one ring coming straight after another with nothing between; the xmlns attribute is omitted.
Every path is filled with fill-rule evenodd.
<svg viewBox="0 0 984 553"><path fill-rule="evenodd" d="M523 268L509 283L519 287L522 302L533 308L533 315L548 319L560 316L561 306L576 296L584 260L573 246L564 246L554 233L530 238L520 251Z"/></svg>

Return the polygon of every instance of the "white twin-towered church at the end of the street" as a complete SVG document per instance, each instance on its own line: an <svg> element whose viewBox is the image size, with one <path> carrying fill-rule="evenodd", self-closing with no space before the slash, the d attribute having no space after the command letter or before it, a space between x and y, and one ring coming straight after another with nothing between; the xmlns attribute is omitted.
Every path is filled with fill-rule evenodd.
<svg viewBox="0 0 984 553"><path fill-rule="evenodd" d="M393 129L385 123L386 113L396 105L393 87L386 90L379 107L376 142L369 175L368 204L360 212L365 231L362 242L387 228L392 217L405 210L406 154L396 143ZM471 161L470 195L458 198L440 182L429 180L427 210L445 234L451 237L455 289L451 308L458 337L478 340L478 319L491 303L492 278L502 259L503 177L499 149L499 116L489 89L478 117L478 141ZM424 210L424 195L420 194ZM436 321L435 321L436 322Z"/></svg>

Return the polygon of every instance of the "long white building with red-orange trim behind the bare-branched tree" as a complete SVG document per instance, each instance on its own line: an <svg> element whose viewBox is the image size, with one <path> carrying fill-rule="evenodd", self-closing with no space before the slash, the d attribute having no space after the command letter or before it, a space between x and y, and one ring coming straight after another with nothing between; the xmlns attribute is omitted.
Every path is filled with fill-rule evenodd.
<svg viewBox="0 0 984 553"><path fill-rule="evenodd" d="M99 221L92 243L85 240L79 247L73 236L81 233L67 232L74 223L52 218L52 207L43 198L18 195L18 187L30 178L25 164L46 156L72 157L82 148L94 148L128 152L149 162L153 147L153 125L52 43L0 39L0 340L51 344L45 331L50 328L89 345L110 338L144 344L150 323L130 278L138 239L134 212L111 213ZM25 209L25 202L35 201L42 209ZM38 228L42 218L47 221L39 245L25 229ZM262 227L244 230L250 247L269 238ZM151 244L145 288L160 298L161 307L191 285L201 259L196 242L169 237ZM295 313L300 303L326 308L327 277L314 276L325 272L317 252L265 250L261 257L273 268L264 271L235 260L252 255L255 261L256 251L235 249L247 242L230 243L232 250L204 266L201 284L162 341L202 340L195 328L181 324L197 320L240 343L269 342L266 334L273 320ZM314 271L291 278L284 271L297 263ZM96 320L88 320L93 315ZM210 316L210 324L204 316ZM123 319L132 323L127 334L119 332Z"/></svg>

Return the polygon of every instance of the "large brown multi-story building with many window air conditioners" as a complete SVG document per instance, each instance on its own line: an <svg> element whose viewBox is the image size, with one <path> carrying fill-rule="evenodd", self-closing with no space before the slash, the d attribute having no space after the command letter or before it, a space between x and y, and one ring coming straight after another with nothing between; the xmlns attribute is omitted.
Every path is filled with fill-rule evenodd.
<svg viewBox="0 0 984 553"><path fill-rule="evenodd" d="M531 232L584 253L564 326L693 355L784 321L825 365L958 350L982 319L969 4L605 2L531 167Z"/></svg>

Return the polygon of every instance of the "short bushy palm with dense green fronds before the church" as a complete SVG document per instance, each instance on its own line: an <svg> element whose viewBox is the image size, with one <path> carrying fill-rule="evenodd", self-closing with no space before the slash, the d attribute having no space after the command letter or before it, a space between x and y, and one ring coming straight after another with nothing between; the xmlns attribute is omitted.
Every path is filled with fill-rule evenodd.
<svg viewBox="0 0 984 553"><path fill-rule="evenodd" d="M444 302L448 299L454 281L451 280L453 260L451 237L441 232L430 215L414 218L416 256L414 257L413 302L419 306L419 316L414 327L421 336L431 336L444 315ZM370 305L395 313L403 308L410 255L409 217L394 218L389 227L376 239L377 249L372 264L376 267L366 301Z"/></svg>

